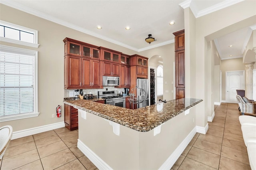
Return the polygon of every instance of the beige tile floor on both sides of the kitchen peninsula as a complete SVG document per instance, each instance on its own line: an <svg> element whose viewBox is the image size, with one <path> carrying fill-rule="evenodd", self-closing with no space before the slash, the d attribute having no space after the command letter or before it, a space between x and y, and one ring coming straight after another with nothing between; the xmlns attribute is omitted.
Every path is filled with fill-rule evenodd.
<svg viewBox="0 0 256 170"><path fill-rule="evenodd" d="M215 106L206 134L196 133L171 170L250 170L237 104ZM77 148L78 130L59 128L11 140L1 170L96 170Z"/></svg>

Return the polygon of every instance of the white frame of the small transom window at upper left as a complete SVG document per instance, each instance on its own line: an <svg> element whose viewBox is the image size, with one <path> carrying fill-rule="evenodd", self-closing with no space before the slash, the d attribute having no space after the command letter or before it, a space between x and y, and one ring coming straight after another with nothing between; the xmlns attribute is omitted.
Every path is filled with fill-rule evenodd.
<svg viewBox="0 0 256 170"><path fill-rule="evenodd" d="M1 37L0 36L0 41L1 42L8 42L8 43L13 43L13 44L18 44L18 45L25 45L25 46L28 46L28 47L36 47L36 48L39 47L38 31L37 30L33 30L31 28L26 28L24 26L19 26L19 25L16 25L16 24L12 24L10 22L2 21L2 20L0 20L0 24L3 25L3 26L6 26L6 27L14 28L14 29L17 29L17 30L25 31L25 32L31 32L31 33L34 34L34 43L24 42L24 41L20 41L20 40L14 40L14 39L11 39L11 38L6 38L6 37Z"/></svg>

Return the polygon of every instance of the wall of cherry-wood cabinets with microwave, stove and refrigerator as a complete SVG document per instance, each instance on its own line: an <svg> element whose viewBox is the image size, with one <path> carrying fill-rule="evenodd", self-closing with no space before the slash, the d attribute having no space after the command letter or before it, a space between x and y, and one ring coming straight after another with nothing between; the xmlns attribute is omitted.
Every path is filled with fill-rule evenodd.
<svg viewBox="0 0 256 170"><path fill-rule="evenodd" d="M108 93L107 97L112 97L106 99L107 104L115 105L113 100L116 96L115 101L121 101L116 103L123 102L120 106L130 109L130 105L124 101L124 98L129 96L129 91L137 87L143 89L144 93L136 91L134 94L138 95L133 97L142 97L145 101L136 105L136 108L149 105L148 58L140 55L126 55L70 38L65 38L63 41L65 97L78 99L77 95L80 94L84 99L101 97L106 99L106 93ZM135 76L131 76L131 73Z"/></svg>

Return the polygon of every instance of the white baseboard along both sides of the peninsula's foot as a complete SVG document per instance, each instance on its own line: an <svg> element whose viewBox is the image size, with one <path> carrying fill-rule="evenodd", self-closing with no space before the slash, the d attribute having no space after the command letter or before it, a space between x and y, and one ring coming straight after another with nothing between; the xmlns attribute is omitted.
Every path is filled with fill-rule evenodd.
<svg viewBox="0 0 256 170"><path fill-rule="evenodd" d="M186 138L180 143L180 145L172 152L167 160L160 166L159 170L171 169L175 162L178 160L184 149L188 146L189 142L196 134L196 127L186 136ZM88 146L86 146L81 140L78 139L77 147L84 153L87 158L99 169L99 170L112 170L112 168L104 162L98 155L96 155Z"/></svg>

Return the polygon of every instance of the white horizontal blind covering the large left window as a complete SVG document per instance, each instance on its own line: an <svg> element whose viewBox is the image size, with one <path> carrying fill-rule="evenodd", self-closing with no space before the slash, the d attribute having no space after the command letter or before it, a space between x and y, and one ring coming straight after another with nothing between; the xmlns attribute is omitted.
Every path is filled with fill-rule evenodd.
<svg viewBox="0 0 256 170"><path fill-rule="evenodd" d="M34 113L36 54L0 48L0 117Z"/></svg>

